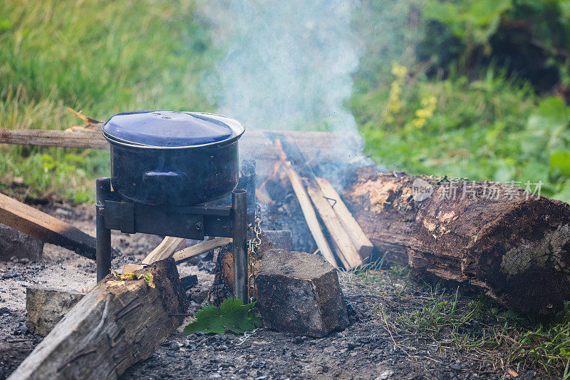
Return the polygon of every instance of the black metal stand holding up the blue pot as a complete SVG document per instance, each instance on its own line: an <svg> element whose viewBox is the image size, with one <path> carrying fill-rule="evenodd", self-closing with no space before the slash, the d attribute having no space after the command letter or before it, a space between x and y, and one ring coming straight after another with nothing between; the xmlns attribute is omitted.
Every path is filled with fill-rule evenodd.
<svg viewBox="0 0 570 380"><path fill-rule="evenodd" d="M109 178L97 179L97 282L110 273L111 230L184 237L232 237L234 298L247 303L247 191L234 190L231 206L155 206L125 200L110 189Z"/></svg>

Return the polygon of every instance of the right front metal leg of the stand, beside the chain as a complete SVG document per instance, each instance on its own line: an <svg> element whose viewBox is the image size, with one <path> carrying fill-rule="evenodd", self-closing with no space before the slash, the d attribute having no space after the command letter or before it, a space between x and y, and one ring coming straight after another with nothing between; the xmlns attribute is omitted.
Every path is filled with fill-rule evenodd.
<svg viewBox="0 0 570 380"><path fill-rule="evenodd" d="M234 210L234 298L242 299L244 304L247 304L247 191L232 192L232 209Z"/></svg>

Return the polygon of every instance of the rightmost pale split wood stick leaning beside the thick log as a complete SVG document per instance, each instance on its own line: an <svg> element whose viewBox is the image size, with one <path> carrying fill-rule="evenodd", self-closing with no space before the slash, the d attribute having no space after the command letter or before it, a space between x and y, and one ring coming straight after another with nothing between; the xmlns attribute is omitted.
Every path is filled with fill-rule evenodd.
<svg viewBox="0 0 570 380"><path fill-rule="evenodd" d="M373 250L374 246L372 242L368 237L366 237L366 234L362 230L361 226L358 225L358 222L356 222L356 219L354 219L351 212L348 211L348 208L341 199L341 196L338 195L336 190L334 190L333 185L324 178L317 178L316 181L318 186L321 188L323 195L328 198L330 203L332 203L331 207L333 207L339 222L341 222L344 230L346 230L348 236L351 238L351 242L358 251L361 259L363 261L366 260Z"/></svg>

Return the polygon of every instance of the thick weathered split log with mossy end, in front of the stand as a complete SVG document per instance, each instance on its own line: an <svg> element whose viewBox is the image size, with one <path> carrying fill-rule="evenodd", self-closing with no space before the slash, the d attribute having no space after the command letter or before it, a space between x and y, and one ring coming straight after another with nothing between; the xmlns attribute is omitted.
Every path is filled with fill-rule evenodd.
<svg viewBox="0 0 570 380"><path fill-rule="evenodd" d="M147 278L105 277L9 379L117 379L150 356L182 324L177 314L188 305L174 260L138 273Z"/></svg>

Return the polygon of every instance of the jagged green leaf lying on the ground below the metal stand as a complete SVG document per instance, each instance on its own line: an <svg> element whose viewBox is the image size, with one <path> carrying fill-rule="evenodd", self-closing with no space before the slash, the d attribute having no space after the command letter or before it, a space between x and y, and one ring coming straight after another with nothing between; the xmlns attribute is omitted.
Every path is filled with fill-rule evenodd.
<svg viewBox="0 0 570 380"><path fill-rule="evenodd" d="M196 320L184 328L185 334L193 332L214 332L222 334L225 329L230 329L236 334L243 334L255 329L256 324L261 324L261 320L252 308L255 302L244 305L241 299L224 299L219 309L212 305L205 305L202 310L196 313Z"/></svg>

